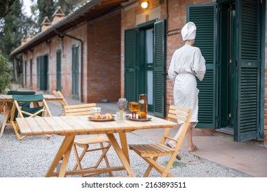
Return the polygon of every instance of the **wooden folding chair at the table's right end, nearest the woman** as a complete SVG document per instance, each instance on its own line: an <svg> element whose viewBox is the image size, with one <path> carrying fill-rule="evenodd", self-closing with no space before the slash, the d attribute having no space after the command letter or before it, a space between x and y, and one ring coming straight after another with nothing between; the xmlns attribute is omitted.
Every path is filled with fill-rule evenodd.
<svg viewBox="0 0 267 191"><path fill-rule="evenodd" d="M148 177L152 168L155 168L160 174L161 177L172 177L170 175L170 167L173 165L173 162L179 153L179 149L181 148L181 143L183 142L183 138L186 135L186 131L189 126L189 120L192 115L192 110L188 108L181 108L177 106L170 106L168 111L168 120L173 119L181 119L185 121L183 123L183 130L181 132L181 136L178 140L169 136L170 128L166 128L164 131L164 135L162 136L162 140L160 143L154 144L145 144L145 145L129 145L129 149L138 153L140 157L142 157L147 163L149 163L149 167L147 171L144 173L144 177ZM175 149L167 147L165 145L166 140L173 140L177 142ZM156 162L157 158L160 156L170 156L170 160L166 164L165 168Z"/></svg>

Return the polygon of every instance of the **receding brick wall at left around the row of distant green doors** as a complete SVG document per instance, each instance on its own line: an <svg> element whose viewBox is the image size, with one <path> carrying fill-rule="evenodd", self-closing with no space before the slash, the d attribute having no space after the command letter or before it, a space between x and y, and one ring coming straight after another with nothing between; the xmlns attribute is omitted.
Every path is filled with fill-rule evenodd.
<svg viewBox="0 0 267 191"><path fill-rule="evenodd" d="M84 42L84 65L87 65L87 42L86 42L86 25L81 25L72 31L66 32L68 35L73 35L76 38L83 40ZM49 44L46 42L39 44L34 47L34 50L27 51L24 55L24 61L27 59L27 85L25 87L29 88L30 76L29 76L29 59L32 58L32 78L33 87L32 89L37 90L37 57L42 55L49 55L49 89L48 93L52 93L56 89L56 52L57 50L62 51L62 93L66 98L71 98L71 87L72 87L72 46L73 44L80 44L79 41L73 38L64 37L63 39L55 37L49 40ZM81 45L79 46L79 64L81 65ZM24 69L23 69L24 72ZM84 70L86 72L86 70ZM79 69L79 76L81 76L81 69ZM86 76L86 75L84 75ZM84 80L85 81L85 80ZM25 82L23 78L23 83ZM86 87L86 85L84 85ZM82 94L85 94L86 90ZM79 80L79 96L81 96L81 87ZM81 98L79 98L81 99Z"/></svg>

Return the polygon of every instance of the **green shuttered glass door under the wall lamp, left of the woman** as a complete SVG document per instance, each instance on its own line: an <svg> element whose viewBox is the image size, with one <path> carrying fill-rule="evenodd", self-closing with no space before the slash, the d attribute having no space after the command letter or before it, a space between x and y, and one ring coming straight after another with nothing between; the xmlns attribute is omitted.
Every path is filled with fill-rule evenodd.
<svg viewBox="0 0 267 191"><path fill-rule="evenodd" d="M165 108L165 33L164 20L125 30L125 98L138 101L147 93L149 111L157 117L164 117Z"/></svg>

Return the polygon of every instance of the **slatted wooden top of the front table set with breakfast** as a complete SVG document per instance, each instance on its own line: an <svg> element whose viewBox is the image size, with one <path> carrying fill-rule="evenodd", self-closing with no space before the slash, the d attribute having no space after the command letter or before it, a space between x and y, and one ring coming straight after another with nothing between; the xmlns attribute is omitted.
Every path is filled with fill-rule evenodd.
<svg viewBox="0 0 267 191"><path fill-rule="evenodd" d="M116 132L131 132L133 130L149 128L172 128L177 123L150 116L150 121L131 121L125 119L124 123L118 121L90 121L88 116L62 116L62 117L27 117L16 119L21 134L108 134Z"/></svg>

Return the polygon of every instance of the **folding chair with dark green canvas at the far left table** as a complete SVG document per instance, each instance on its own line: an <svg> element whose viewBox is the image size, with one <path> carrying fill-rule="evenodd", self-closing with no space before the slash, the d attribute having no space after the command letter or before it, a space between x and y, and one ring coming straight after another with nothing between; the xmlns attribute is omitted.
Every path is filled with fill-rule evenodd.
<svg viewBox="0 0 267 191"><path fill-rule="evenodd" d="M45 117L52 116L47 106L47 102L44 100L44 96L42 94L38 95L12 95L14 104L11 110L10 122L18 140L21 141L26 136L20 136L19 128L16 124L16 118L23 117ZM39 102L42 102L40 106ZM25 106L23 103L27 103L29 105ZM30 106L32 105L32 106ZM47 138L50 138L50 135L45 135Z"/></svg>

